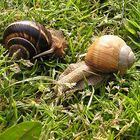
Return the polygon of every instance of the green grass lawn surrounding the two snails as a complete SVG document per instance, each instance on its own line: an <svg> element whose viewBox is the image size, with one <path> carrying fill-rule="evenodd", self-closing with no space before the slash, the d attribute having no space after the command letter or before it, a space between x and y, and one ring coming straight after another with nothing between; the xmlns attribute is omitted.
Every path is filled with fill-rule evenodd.
<svg viewBox="0 0 140 140"><path fill-rule="evenodd" d="M45 61L5 56L0 49L0 132L24 121L40 121L40 139L139 140L140 50L125 28L126 19L139 24L132 0L34 0L0 2L0 37L16 20L33 20L64 32L68 48L63 58ZM133 10L131 10L133 9ZM98 89L87 87L70 93L55 104L53 80L70 64L79 61L95 36L116 34L134 50L137 61L124 77ZM139 43L139 42L137 42Z"/></svg>

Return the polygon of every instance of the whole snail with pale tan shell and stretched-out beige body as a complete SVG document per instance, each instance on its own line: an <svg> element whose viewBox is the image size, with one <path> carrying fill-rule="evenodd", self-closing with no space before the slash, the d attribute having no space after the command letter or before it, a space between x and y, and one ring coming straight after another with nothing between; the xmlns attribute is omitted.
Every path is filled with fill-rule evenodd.
<svg viewBox="0 0 140 140"><path fill-rule="evenodd" d="M85 78L91 83L94 79L100 82L112 73L123 75L134 62L135 55L123 39L116 35L101 36L88 48L85 61L69 65L60 75L55 90L64 92L72 83L77 85Z"/></svg>

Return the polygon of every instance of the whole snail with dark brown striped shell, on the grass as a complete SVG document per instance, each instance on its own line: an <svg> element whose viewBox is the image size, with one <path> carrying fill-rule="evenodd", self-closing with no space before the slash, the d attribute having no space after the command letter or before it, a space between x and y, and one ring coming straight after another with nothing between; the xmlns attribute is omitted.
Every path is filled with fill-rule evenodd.
<svg viewBox="0 0 140 140"><path fill-rule="evenodd" d="M35 59L50 53L62 56L66 47L61 31L26 20L14 22L5 29L3 44L9 50L9 56L16 52L17 59Z"/></svg>

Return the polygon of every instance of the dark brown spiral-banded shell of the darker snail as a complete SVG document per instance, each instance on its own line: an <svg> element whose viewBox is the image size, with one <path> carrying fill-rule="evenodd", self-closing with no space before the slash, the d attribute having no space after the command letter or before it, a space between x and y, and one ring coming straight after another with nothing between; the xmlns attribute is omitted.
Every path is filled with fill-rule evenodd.
<svg viewBox="0 0 140 140"><path fill-rule="evenodd" d="M18 21L6 28L3 35L3 43L11 56L20 49L20 55L24 52L21 55L22 58L31 59L33 56L51 48L52 36L41 24L33 21ZM26 54L27 51L28 54Z"/></svg>

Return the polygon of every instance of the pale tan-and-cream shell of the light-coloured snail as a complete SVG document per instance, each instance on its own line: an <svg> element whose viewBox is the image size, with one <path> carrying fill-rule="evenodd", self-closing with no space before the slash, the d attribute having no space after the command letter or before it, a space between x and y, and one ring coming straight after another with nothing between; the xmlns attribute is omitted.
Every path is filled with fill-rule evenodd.
<svg viewBox="0 0 140 140"><path fill-rule="evenodd" d="M131 48L120 37L104 35L89 47L85 62L101 73L124 74L135 62Z"/></svg>

